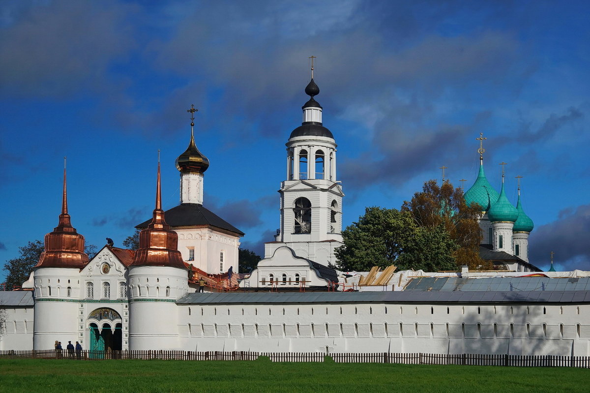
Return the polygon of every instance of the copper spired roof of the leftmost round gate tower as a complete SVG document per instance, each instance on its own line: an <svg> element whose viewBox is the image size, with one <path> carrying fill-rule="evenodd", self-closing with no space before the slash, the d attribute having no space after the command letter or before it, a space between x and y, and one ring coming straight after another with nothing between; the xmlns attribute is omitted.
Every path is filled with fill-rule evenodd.
<svg viewBox="0 0 590 393"><path fill-rule="evenodd" d="M53 232L45 235L45 251L41 253L37 267L74 267L83 268L88 263L88 256L84 253L84 236L72 227L68 214L68 197L65 182L64 194L61 201L60 222Z"/></svg>

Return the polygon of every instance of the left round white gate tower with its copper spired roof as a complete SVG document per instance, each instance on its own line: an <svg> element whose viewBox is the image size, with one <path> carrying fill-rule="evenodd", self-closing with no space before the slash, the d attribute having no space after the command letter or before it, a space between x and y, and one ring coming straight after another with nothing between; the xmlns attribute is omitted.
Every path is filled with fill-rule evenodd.
<svg viewBox="0 0 590 393"><path fill-rule="evenodd" d="M60 220L57 227L45 235L45 250L33 268L33 349L53 349L56 338L64 343L79 340L78 304L73 299L80 297L80 269L87 263L84 236L72 227L68 214L64 165Z"/></svg>

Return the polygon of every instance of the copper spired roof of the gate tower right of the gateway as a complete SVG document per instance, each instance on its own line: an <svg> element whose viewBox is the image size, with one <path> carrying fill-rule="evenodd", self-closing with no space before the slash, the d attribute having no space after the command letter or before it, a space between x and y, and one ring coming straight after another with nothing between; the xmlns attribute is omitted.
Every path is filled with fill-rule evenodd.
<svg viewBox="0 0 590 393"><path fill-rule="evenodd" d="M135 251L131 266L170 266L185 268L178 251L178 235L164 219L160 192L160 163L156 185L156 208L148 228L139 232L139 248Z"/></svg>

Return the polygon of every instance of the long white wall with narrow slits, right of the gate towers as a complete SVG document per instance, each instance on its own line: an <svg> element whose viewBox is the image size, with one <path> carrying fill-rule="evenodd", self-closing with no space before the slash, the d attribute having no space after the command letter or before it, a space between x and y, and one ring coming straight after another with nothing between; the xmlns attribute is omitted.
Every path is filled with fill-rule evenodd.
<svg viewBox="0 0 590 393"><path fill-rule="evenodd" d="M179 305L186 351L590 355L590 305Z"/></svg>

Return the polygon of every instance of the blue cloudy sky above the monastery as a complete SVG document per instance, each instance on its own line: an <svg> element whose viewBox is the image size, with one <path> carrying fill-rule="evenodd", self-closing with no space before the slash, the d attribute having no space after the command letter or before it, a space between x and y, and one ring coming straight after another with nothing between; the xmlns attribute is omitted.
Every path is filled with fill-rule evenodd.
<svg viewBox="0 0 590 393"><path fill-rule="evenodd" d="M530 261L590 270L590 4L585 1L9 1L0 4L0 261L72 222L116 245L165 208L189 140L211 162L204 205L258 253L279 226L284 143L308 57L338 143L345 225L424 181L484 163L535 222Z"/></svg>

